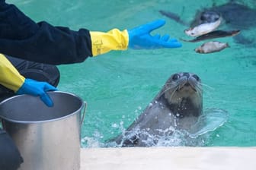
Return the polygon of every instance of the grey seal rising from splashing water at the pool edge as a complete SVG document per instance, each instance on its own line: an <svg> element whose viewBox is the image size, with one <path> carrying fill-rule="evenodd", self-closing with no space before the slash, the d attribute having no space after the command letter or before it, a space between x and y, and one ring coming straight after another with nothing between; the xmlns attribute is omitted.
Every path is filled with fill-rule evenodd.
<svg viewBox="0 0 256 170"><path fill-rule="evenodd" d="M110 142L118 146L155 146L161 137L175 130L189 132L202 115L202 96L197 74L172 74L139 118Z"/></svg>

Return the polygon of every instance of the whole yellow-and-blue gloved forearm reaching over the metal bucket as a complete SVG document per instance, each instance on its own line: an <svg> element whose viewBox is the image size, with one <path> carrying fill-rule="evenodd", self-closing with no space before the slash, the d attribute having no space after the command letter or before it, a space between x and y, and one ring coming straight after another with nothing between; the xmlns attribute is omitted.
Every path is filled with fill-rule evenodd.
<svg viewBox="0 0 256 170"><path fill-rule="evenodd" d="M26 79L2 54L0 54L0 84L17 94L40 96L46 105L53 106L53 101L46 92L56 90L56 88L46 82Z"/></svg>

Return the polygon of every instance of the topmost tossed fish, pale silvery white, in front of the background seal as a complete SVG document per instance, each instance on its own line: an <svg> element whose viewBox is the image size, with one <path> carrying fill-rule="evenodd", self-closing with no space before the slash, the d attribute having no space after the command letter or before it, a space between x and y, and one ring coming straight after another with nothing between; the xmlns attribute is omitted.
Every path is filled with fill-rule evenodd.
<svg viewBox="0 0 256 170"><path fill-rule="evenodd" d="M222 20L222 17L219 17L218 20L212 23L204 23L204 24L198 25L197 27L184 30L184 33L186 33L187 36L202 36L206 33L210 33L213 30L216 30L216 28L219 27L221 20Z"/></svg>

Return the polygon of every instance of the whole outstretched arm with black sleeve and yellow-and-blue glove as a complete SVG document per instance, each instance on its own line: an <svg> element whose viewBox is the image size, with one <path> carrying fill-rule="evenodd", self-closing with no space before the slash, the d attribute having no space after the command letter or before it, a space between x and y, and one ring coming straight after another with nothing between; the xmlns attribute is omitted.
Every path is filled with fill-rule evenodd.
<svg viewBox="0 0 256 170"><path fill-rule="evenodd" d="M131 30L113 29L107 33L86 29L54 27L45 21L35 23L14 5L0 0L0 52L18 58L53 65L82 62L110 50L176 48L181 43L165 36L151 36L165 20L155 20Z"/></svg>

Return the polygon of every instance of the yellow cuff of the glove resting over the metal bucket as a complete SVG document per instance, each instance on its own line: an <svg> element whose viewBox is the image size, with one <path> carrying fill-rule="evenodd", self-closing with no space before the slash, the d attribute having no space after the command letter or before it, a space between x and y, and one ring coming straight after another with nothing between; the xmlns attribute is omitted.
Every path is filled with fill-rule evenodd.
<svg viewBox="0 0 256 170"><path fill-rule="evenodd" d="M0 83L16 93L24 80L25 78L11 65L5 55L0 54Z"/></svg>

